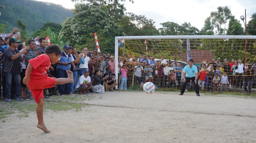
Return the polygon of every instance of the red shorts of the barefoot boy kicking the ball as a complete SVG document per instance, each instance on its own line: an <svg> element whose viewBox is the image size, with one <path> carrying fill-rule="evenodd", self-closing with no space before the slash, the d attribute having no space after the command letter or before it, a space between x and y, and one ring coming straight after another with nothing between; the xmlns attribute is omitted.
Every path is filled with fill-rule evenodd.
<svg viewBox="0 0 256 143"><path fill-rule="evenodd" d="M31 93L38 104L40 98L44 99L43 89L52 88L55 83L56 80L54 77L42 77L42 79L30 79L27 87L31 90Z"/></svg>

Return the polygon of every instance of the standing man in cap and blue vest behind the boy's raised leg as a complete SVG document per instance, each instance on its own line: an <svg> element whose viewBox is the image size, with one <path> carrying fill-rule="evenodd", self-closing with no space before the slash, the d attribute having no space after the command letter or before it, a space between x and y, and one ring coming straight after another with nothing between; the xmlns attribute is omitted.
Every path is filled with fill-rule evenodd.
<svg viewBox="0 0 256 143"><path fill-rule="evenodd" d="M70 70L71 65L73 66L73 70L76 69L76 67L74 66L74 58L69 53L70 50L71 50L71 48L69 47L69 45L64 45L63 51L62 51L62 56L59 58L59 61L57 62L59 78L67 78L66 70ZM61 84L61 85L59 85L59 87L60 87L60 95L64 95L64 94L70 95L71 83Z"/></svg>

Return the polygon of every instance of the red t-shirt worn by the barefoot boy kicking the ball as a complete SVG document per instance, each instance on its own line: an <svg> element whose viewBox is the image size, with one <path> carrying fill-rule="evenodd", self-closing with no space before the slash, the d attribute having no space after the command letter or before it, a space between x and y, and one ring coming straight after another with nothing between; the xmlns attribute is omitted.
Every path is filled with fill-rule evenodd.
<svg viewBox="0 0 256 143"><path fill-rule="evenodd" d="M28 62L33 66L30 79L42 79L42 77L47 77L47 71L51 66L51 60L48 55L41 54Z"/></svg>

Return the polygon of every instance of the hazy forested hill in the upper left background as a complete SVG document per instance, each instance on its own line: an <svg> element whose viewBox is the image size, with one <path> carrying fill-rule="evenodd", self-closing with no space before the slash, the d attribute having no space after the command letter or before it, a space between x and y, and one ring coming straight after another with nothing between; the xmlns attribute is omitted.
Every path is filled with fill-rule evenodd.
<svg viewBox="0 0 256 143"><path fill-rule="evenodd" d="M73 17L73 9L66 9L62 5L33 0L3 0L0 23L7 25L7 32L18 27L20 20L27 27L28 34L40 29L45 22L62 23L67 17Z"/></svg>

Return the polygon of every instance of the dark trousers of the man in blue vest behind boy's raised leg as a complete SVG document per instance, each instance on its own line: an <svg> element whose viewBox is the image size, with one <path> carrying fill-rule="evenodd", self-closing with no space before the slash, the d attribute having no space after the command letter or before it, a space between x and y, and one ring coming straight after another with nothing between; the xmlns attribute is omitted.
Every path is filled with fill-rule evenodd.
<svg viewBox="0 0 256 143"><path fill-rule="evenodd" d="M67 78L67 72L65 70L58 69L58 77ZM60 95L70 94L71 83L60 84L59 87L60 87Z"/></svg>

